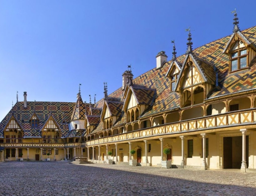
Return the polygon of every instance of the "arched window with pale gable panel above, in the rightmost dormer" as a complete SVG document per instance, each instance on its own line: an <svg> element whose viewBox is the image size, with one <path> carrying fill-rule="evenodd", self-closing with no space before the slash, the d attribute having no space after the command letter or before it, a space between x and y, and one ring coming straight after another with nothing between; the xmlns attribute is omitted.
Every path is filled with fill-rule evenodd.
<svg viewBox="0 0 256 196"><path fill-rule="evenodd" d="M230 56L230 71L236 71L248 67L247 65L247 49L243 41L238 41L233 46Z"/></svg>

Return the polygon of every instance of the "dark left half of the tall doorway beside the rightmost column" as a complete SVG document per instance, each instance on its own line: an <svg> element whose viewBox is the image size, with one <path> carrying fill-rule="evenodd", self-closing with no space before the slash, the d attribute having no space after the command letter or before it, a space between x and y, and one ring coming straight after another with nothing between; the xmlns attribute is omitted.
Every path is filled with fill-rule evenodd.
<svg viewBox="0 0 256 196"><path fill-rule="evenodd" d="M232 168L232 138L223 138L223 168Z"/></svg>

